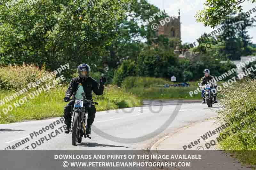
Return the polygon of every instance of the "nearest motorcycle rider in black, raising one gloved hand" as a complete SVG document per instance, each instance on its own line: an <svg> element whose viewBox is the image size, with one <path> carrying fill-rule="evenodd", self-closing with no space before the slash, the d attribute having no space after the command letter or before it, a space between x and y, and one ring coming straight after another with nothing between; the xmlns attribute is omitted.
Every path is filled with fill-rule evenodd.
<svg viewBox="0 0 256 170"><path fill-rule="evenodd" d="M68 85L68 89L66 91L65 97L63 101L68 102L67 106L64 108L64 118L65 118L65 124L67 124L67 128L65 130L65 133L69 133L69 129L71 128L71 111L74 107L75 100L81 99L81 93L85 92L85 98L87 100L92 100L92 91L96 95L102 95L104 92L104 84L107 81L107 78L101 77L100 78L100 84L90 77L91 68L88 64L80 64L77 67L77 74L78 77L72 78ZM80 95L80 96L79 96ZM70 97L72 99L70 100ZM91 134L91 125L94 121L96 113L96 108L94 105L88 106L88 119L87 119L87 125L86 125L86 133Z"/></svg>

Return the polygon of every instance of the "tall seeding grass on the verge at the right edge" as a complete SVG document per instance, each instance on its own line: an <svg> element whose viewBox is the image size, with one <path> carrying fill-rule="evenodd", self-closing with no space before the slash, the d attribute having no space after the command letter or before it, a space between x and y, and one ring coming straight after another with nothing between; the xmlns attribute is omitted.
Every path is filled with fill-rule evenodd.
<svg viewBox="0 0 256 170"><path fill-rule="evenodd" d="M222 90L220 93L220 102L224 106L218 112L219 122L221 124L230 123L231 126L224 129L222 133L232 128L240 127L243 122L249 119L256 120L256 81L250 78L237 82ZM243 113L246 116L240 121L231 123L231 118L241 117ZM230 132L231 135L220 142L220 148L228 150L235 155L236 158L246 164L254 165L256 168L256 122L251 125L245 125L236 133Z"/></svg>

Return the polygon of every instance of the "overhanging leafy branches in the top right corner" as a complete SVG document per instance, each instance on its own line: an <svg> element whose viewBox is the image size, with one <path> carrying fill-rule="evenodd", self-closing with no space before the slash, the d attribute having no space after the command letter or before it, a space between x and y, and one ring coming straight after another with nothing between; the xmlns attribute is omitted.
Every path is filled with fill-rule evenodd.
<svg viewBox="0 0 256 170"><path fill-rule="evenodd" d="M245 0L206 0L204 10L197 11L195 15L196 21L201 22L204 26L214 28L222 22L222 19L229 15L232 11L243 10L242 3ZM256 0L248 0L252 3Z"/></svg>

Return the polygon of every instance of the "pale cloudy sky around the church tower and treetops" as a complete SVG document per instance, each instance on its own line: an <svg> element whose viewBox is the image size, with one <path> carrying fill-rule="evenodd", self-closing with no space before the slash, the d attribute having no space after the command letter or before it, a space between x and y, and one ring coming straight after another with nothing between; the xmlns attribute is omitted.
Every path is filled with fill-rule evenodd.
<svg viewBox="0 0 256 170"><path fill-rule="evenodd" d="M204 32L211 33L214 30L210 26L204 27L202 23L196 22L196 11L203 10L205 2L205 0L148 0L148 3L157 6L160 10L165 10L169 16L178 16L178 10L180 9L182 44L186 42L193 43ZM242 6L243 11L246 12L256 8L256 3L252 4L250 1L244 1ZM256 13L252 13L251 17L255 15ZM248 29L248 34L252 37L254 44L256 44L255 29L256 27Z"/></svg>

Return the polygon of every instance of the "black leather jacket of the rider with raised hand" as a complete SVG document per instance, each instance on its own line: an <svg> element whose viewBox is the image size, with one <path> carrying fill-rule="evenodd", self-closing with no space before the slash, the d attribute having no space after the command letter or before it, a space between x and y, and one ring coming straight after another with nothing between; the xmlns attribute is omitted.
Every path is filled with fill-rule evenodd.
<svg viewBox="0 0 256 170"><path fill-rule="evenodd" d="M74 97L76 92L80 86L83 86L85 97L87 100L92 99L92 91L96 95L102 95L104 92L104 86L100 82L100 84L91 77L88 77L85 81L80 79L79 77L72 78L68 85L68 89L66 91L66 96Z"/></svg>

